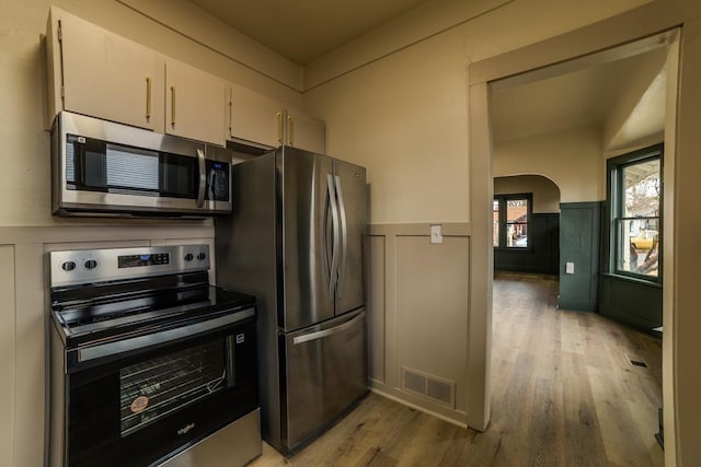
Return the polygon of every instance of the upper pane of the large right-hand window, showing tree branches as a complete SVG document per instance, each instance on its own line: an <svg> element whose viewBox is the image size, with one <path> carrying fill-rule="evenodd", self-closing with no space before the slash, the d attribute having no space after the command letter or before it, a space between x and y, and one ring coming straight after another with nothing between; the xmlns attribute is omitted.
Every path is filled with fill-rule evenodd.
<svg viewBox="0 0 701 467"><path fill-rule="evenodd" d="M627 165L623 172L625 192L623 218L659 215L659 159Z"/></svg>

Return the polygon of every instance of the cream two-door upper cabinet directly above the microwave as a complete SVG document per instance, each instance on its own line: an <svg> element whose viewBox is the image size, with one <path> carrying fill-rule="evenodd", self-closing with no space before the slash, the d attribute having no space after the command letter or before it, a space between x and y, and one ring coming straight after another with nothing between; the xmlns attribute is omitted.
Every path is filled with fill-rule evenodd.
<svg viewBox="0 0 701 467"><path fill-rule="evenodd" d="M70 110L223 145L226 83L51 7L47 24L49 129Z"/></svg>

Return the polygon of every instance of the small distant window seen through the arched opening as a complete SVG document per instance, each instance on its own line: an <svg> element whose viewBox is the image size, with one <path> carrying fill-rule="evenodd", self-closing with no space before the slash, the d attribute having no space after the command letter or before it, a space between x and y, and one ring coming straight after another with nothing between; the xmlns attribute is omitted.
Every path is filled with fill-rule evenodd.
<svg viewBox="0 0 701 467"><path fill-rule="evenodd" d="M495 248L528 248L531 195L496 195L492 208Z"/></svg>

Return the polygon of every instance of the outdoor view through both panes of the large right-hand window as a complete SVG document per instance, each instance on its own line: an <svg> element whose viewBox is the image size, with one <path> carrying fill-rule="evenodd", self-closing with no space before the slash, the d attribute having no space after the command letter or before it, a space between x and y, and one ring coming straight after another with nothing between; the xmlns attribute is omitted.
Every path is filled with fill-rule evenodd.
<svg viewBox="0 0 701 467"><path fill-rule="evenodd" d="M659 268L662 164L658 155L617 167L617 271L657 278Z"/></svg>

